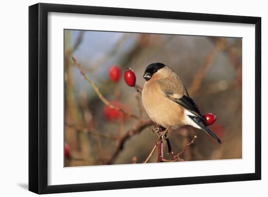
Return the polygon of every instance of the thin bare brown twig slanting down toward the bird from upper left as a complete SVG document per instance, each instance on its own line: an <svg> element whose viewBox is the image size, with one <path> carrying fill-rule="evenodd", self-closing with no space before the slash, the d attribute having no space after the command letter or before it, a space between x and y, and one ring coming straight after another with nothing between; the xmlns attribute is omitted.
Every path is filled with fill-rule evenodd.
<svg viewBox="0 0 268 197"><path fill-rule="evenodd" d="M126 112L125 110L123 110L122 108L119 108L119 107L116 107L115 105L112 105L106 98L104 98L102 96L102 94L100 93L99 91L99 88L96 86L96 84L90 80L87 76L86 76L86 73L83 71L82 69L82 66L80 63L77 62L77 60L75 59L75 57L72 58L73 61L75 62L75 64L77 65L81 75L84 77L84 79L89 83L91 84L91 86L93 87L93 89L95 90L98 98L107 106L109 106L111 109L115 109L115 110L118 110L120 112L122 112L124 115L126 116L129 116L129 117L132 117L132 118L135 118L135 119L138 119L138 117L136 117L135 115L133 114L129 114L128 112Z"/></svg>

